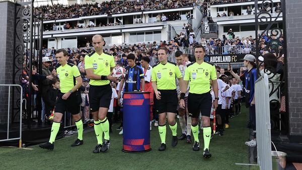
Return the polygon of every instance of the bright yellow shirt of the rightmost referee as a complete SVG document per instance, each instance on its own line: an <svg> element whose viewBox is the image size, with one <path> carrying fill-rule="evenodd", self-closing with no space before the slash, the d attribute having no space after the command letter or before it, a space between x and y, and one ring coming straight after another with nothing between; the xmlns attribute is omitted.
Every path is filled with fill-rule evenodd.
<svg viewBox="0 0 302 170"><path fill-rule="evenodd" d="M210 91L210 80L217 79L216 69L213 63L192 62L187 65L184 80L190 81L189 93L204 94Z"/></svg>

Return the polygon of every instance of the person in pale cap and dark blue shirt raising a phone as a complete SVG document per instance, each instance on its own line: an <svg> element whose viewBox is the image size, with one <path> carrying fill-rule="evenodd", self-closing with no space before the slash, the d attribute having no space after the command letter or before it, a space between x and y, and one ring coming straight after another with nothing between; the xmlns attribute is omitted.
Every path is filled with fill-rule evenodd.
<svg viewBox="0 0 302 170"><path fill-rule="evenodd" d="M239 76L233 71L231 64L229 64L228 70L239 81L242 81L245 86L246 107L250 110L250 122L254 130L254 139L246 142L248 146L256 146L256 111L255 111L255 81L257 79L257 71L255 69L255 56L247 54L243 58L243 64L248 69L244 74Z"/></svg>

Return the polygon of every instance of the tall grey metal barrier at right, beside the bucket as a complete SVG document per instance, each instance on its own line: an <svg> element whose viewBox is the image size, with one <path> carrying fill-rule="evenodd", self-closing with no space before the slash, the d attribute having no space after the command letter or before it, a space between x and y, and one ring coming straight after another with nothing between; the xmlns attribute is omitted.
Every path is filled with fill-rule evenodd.
<svg viewBox="0 0 302 170"><path fill-rule="evenodd" d="M255 82L257 161L260 169L272 169L269 85L265 73Z"/></svg>

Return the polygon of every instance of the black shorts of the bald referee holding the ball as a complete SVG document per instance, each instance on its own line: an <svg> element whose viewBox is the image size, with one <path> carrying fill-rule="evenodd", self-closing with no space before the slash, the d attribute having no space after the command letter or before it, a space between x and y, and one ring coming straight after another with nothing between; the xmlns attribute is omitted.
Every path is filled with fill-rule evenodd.
<svg viewBox="0 0 302 170"><path fill-rule="evenodd" d="M104 86L90 85L88 96L91 112L96 112L99 110L99 108L109 109L112 96L112 88L110 84L106 84Z"/></svg>

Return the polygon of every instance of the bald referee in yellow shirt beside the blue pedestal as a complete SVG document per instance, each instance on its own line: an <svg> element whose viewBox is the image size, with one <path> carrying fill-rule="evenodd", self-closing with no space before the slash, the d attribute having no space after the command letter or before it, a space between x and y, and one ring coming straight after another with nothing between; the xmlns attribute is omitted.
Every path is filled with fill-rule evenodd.
<svg viewBox="0 0 302 170"><path fill-rule="evenodd" d="M95 51L85 56L85 69L87 77L90 79L89 105L98 140L93 153L104 152L109 149L109 121L106 116L112 96L110 81L117 81L117 77L111 75L111 71L115 67L114 58L110 53L103 52L104 43L101 35L94 35L92 45Z"/></svg>

